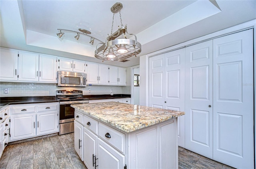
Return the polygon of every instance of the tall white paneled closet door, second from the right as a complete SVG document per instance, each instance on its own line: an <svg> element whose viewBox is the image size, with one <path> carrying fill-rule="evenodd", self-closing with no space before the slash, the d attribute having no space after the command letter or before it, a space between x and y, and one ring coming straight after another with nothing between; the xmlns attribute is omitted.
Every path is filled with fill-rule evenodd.
<svg viewBox="0 0 256 169"><path fill-rule="evenodd" d="M185 148L212 159L212 40L186 47Z"/></svg>

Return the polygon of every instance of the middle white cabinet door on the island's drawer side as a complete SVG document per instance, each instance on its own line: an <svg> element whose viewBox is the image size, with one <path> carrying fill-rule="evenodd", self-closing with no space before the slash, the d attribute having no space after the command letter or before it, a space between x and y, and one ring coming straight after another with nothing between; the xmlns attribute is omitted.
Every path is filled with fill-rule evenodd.
<svg viewBox="0 0 256 169"><path fill-rule="evenodd" d="M84 128L84 164L88 169L94 169L95 163L98 163L98 159L95 162L95 159L98 158L96 155L97 148L97 136L90 132L87 128ZM95 163L94 163L95 162ZM100 169L100 168L98 168Z"/></svg>

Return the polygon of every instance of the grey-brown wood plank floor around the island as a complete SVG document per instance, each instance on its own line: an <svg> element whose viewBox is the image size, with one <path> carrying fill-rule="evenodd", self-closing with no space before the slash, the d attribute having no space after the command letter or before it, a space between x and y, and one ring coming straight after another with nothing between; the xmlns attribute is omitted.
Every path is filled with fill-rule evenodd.
<svg viewBox="0 0 256 169"><path fill-rule="evenodd" d="M74 150L74 133L7 145L0 169L86 169ZM233 169L179 147L179 169Z"/></svg>

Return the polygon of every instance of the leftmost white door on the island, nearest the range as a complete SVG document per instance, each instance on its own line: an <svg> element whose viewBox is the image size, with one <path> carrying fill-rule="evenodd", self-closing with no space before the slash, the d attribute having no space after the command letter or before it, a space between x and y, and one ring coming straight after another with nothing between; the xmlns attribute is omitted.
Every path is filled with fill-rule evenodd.
<svg viewBox="0 0 256 169"><path fill-rule="evenodd" d="M83 125L74 120L74 148L83 161Z"/></svg>

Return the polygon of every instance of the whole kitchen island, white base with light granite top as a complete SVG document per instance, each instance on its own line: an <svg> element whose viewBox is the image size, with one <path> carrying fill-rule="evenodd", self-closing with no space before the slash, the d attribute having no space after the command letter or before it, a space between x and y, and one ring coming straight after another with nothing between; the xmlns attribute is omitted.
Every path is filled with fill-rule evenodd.
<svg viewBox="0 0 256 169"><path fill-rule="evenodd" d="M178 168L184 112L119 102L73 104L75 149L88 169Z"/></svg>

